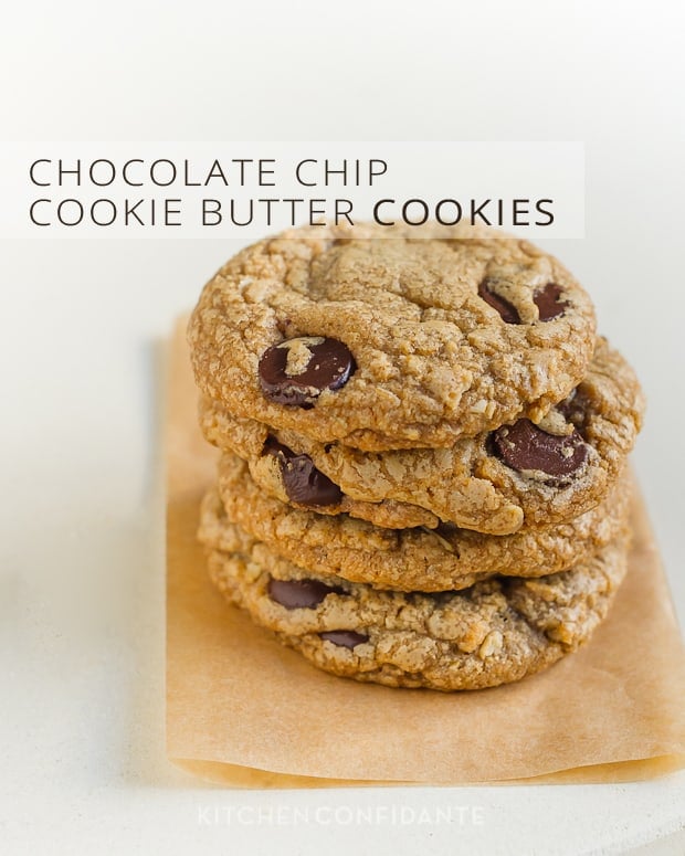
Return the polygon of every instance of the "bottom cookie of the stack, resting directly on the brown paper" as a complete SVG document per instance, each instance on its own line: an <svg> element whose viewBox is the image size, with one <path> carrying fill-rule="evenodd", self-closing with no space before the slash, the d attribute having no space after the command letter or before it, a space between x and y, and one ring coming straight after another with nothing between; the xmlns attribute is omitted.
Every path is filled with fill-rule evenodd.
<svg viewBox="0 0 685 856"><path fill-rule="evenodd" d="M434 594L306 571L260 543L212 550L209 569L229 601L326 672L392 687L478 689L519 680L587 642L625 574L626 536L572 570Z"/></svg>

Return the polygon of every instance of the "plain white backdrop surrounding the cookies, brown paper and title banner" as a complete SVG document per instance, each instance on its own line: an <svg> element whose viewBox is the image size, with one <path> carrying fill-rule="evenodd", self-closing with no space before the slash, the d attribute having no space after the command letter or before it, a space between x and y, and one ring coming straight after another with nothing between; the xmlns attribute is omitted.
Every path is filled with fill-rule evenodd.
<svg viewBox="0 0 685 856"><path fill-rule="evenodd" d="M682 10L13 3L0 30L3 135L584 141L587 237L550 249L649 394L635 462L683 622ZM0 850L579 854L682 827L683 774L259 793L167 763L157 344L234 249L2 242ZM331 739L344 739L333 726ZM484 822L205 826L199 814L336 803L482 806ZM644 852L684 849L676 836Z"/></svg>

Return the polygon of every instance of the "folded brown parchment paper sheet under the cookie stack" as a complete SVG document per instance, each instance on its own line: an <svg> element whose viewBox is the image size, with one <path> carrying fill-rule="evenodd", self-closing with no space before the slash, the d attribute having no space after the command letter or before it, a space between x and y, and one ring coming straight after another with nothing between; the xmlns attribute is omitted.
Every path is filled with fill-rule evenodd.
<svg viewBox="0 0 685 856"><path fill-rule="evenodd" d="M319 672L229 606L196 541L215 451L185 340L168 362L167 750L232 786L607 782L685 767L685 656L644 505L629 574L592 641L540 675L461 694Z"/></svg>

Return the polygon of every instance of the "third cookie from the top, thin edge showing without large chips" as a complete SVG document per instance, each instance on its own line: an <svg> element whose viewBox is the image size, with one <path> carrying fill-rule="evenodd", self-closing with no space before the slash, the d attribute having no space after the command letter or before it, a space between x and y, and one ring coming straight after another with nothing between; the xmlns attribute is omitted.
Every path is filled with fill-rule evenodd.
<svg viewBox="0 0 685 856"><path fill-rule="evenodd" d="M265 496L245 463L228 454L219 488L220 496L212 490L202 506L200 540L207 546L229 549L236 524L303 568L401 591L464 589L492 574L541 577L569 568L615 537L630 499L622 480L604 505L568 524L498 537L452 526L381 529L347 515L302 511Z"/></svg>

